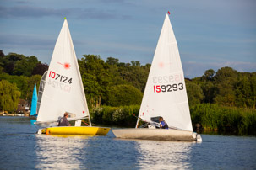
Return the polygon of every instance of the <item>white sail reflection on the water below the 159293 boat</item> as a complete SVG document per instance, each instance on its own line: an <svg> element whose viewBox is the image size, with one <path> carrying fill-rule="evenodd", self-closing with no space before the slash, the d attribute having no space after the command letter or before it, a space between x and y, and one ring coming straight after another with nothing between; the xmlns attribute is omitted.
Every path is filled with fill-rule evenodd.
<svg viewBox="0 0 256 170"><path fill-rule="evenodd" d="M142 169L189 168L192 142L137 141L138 167Z"/></svg>

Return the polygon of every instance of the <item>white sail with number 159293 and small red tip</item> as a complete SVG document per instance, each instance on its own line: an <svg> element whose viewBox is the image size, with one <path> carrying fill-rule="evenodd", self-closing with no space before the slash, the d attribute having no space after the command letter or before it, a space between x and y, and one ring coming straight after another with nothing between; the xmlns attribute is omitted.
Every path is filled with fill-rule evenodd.
<svg viewBox="0 0 256 170"><path fill-rule="evenodd" d="M139 110L142 120L157 116L162 116L169 127L193 131L182 62L167 14Z"/></svg>

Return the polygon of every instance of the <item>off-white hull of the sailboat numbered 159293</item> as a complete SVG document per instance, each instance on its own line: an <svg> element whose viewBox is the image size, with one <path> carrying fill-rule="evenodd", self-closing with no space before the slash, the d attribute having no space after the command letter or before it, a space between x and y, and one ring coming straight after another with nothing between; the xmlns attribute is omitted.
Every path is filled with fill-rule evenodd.
<svg viewBox="0 0 256 170"><path fill-rule="evenodd" d="M154 141L202 141L197 133L187 130L164 130L148 128L112 129L117 138Z"/></svg>

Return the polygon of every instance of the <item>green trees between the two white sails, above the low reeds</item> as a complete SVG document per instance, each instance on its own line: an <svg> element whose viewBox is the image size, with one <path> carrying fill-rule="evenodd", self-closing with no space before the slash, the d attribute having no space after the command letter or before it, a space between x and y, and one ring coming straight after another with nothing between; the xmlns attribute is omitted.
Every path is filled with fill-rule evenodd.
<svg viewBox="0 0 256 170"><path fill-rule="evenodd" d="M141 103L150 65L141 66L139 61L122 63L112 57L103 61L100 56L84 55L79 68L90 108Z"/></svg>

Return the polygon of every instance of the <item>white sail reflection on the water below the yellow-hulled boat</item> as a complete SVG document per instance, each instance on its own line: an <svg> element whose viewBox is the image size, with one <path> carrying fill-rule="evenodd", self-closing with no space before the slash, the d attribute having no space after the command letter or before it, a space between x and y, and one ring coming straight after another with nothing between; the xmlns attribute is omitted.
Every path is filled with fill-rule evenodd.
<svg viewBox="0 0 256 170"><path fill-rule="evenodd" d="M90 136L36 135L35 168L81 168L88 139Z"/></svg>

